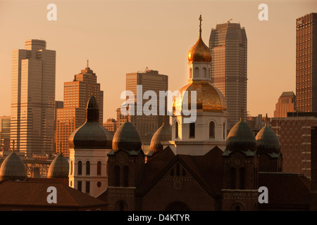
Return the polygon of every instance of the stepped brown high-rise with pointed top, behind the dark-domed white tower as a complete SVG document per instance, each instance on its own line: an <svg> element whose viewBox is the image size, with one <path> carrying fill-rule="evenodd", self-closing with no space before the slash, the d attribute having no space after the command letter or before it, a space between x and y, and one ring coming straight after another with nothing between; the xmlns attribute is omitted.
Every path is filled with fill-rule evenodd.
<svg viewBox="0 0 317 225"><path fill-rule="evenodd" d="M88 61L85 70L75 75L73 82L64 83L63 108L57 109L56 152L69 156L68 138L70 134L84 124L89 98L94 94L99 105L99 123L103 122L104 91L100 90L97 76L90 70Z"/></svg>

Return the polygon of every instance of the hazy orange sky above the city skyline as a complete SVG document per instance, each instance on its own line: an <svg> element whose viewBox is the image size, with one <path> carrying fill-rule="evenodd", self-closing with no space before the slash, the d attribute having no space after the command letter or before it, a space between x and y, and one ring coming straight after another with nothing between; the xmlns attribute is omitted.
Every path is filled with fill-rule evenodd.
<svg viewBox="0 0 317 225"><path fill-rule="evenodd" d="M57 6L49 21L46 6ZM260 21L259 4L268 5ZM273 116L282 91L295 93L296 18L317 11L317 1L14 1L0 0L0 116L11 113L11 51L26 39L44 39L56 51L56 100L63 82L86 66L104 90L104 121L116 118L123 103L125 74L159 70L168 75L170 91L187 84L187 53L199 33L209 46L217 23L240 23L248 39L247 110Z"/></svg>

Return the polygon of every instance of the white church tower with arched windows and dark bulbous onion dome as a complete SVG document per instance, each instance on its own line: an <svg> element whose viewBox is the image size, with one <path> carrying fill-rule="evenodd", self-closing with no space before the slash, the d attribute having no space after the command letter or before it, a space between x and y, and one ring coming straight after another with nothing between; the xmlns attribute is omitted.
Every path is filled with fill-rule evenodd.
<svg viewBox="0 0 317 225"><path fill-rule="evenodd" d="M69 186L84 193L99 196L106 191L107 153L113 135L99 123L99 107L91 96L86 108L86 122L75 129L68 139L70 147Z"/></svg>

